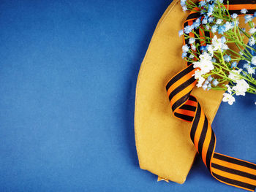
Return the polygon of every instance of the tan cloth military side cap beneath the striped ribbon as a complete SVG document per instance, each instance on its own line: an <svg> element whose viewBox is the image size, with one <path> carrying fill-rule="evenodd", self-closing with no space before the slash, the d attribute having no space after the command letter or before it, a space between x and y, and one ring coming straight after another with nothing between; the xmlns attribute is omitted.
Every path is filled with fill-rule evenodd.
<svg viewBox="0 0 256 192"><path fill-rule="evenodd" d="M146 56L140 66L135 99L135 139L140 168L165 180L184 183L196 150L189 138L190 123L174 118L165 84L186 64L181 58L182 37L178 31L187 18L174 0L157 24ZM193 94L212 122L222 101L221 91Z"/></svg>

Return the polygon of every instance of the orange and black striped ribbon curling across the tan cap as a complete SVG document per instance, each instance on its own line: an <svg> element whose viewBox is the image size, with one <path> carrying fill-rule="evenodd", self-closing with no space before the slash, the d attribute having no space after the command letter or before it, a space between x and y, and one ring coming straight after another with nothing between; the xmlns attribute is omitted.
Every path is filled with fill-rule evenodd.
<svg viewBox="0 0 256 192"><path fill-rule="evenodd" d="M241 15L240 10L244 8L248 9L247 14L253 14L256 4L252 0L235 0L229 1L228 8L230 14L236 12ZM197 12L191 12L184 22L184 27L191 25L200 16ZM198 29L196 32L202 33ZM189 35L192 36L192 34ZM204 35L210 37L210 34L206 34L206 32ZM184 39L184 44L188 44L188 39ZM193 65L188 62L185 69L167 82L166 90L173 114L176 118L192 122L190 138L213 177L227 185L255 191L256 164L215 152L214 131L196 97L191 95L191 91L196 85L196 80L192 76L195 70Z"/></svg>

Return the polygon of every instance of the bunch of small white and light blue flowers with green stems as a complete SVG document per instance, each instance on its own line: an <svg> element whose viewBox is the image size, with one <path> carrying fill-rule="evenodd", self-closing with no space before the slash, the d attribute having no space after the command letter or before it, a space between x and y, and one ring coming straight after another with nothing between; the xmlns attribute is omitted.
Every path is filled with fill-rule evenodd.
<svg viewBox="0 0 256 192"><path fill-rule="evenodd" d="M238 17L230 14L228 1L224 5L223 0L181 0L181 6L184 11L200 14L179 31L187 42L182 58L196 68L197 87L226 91L222 101L228 104L236 100L234 95L256 94L256 12L241 9L239 15L243 16ZM240 22L246 23L247 30Z"/></svg>

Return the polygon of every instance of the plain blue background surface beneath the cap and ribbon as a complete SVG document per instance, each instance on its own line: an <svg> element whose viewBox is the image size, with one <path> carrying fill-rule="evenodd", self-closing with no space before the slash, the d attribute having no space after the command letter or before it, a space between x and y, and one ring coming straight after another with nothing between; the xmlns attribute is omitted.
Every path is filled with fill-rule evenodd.
<svg viewBox="0 0 256 192"><path fill-rule="evenodd" d="M139 169L135 85L170 2L0 1L0 191L244 191L200 158L184 185ZM236 99L217 152L256 162L256 98Z"/></svg>

